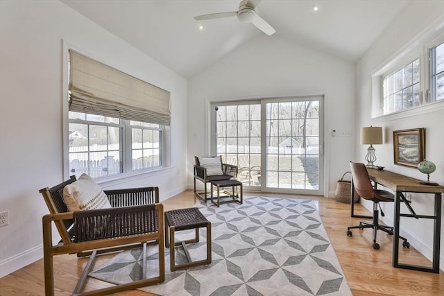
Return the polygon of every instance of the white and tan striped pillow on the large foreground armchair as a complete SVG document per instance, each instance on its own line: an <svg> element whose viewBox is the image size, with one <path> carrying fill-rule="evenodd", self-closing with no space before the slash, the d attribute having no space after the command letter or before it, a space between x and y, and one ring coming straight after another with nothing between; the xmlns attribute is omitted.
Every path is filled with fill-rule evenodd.
<svg viewBox="0 0 444 296"><path fill-rule="evenodd" d="M69 211L110 208L111 204L99 185L89 175L82 174L76 182L65 186L63 200Z"/></svg>

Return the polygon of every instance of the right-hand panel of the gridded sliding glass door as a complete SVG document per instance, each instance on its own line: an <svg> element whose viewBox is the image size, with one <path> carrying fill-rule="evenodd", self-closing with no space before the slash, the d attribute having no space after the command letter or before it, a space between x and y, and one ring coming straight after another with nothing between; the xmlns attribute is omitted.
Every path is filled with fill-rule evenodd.
<svg viewBox="0 0 444 296"><path fill-rule="evenodd" d="M320 101L265 103L266 188L319 191Z"/></svg>

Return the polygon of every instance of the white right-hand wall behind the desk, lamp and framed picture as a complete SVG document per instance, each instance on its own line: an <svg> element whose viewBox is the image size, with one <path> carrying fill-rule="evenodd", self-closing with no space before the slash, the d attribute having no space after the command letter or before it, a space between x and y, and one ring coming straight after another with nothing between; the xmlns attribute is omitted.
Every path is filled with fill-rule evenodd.
<svg viewBox="0 0 444 296"><path fill-rule="evenodd" d="M415 168L398 166L393 163L393 130L405 130L409 128L426 129L426 157L436 164L436 172L430 177L432 181L444 184L444 137L443 137L443 117L444 108L421 107L418 110L403 112L398 116L384 116L378 119L370 119L370 75L388 61L397 51L404 48L412 40L416 40L422 32L432 23L439 21L444 24L444 3L443 1L412 1L407 8L394 19L393 24L384 31L379 40L367 51L364 57L357 63L357 125L355 133L363 126L375 125L384 127L384 144L377 145L376 155L379 166L386 166L388 171L395 171L410 177L427 180L427 175L420 173ZM443 26L441 26L442 30ZM356 142L355 160L364 160L366 146L359 144L359 137ZM413 193L411 205L420 214L433 214L433 195ZM368 209L371 205L366 203ZM393 225L393 204L385 203L387 224ZM443 217L441 219L444 220ZM432 255L433 224L429 220L416 220L412 218L402 218L400 232L409 238L411 245L429 259ZM441 227L441 269L444 262L444 227Z"/></svg>

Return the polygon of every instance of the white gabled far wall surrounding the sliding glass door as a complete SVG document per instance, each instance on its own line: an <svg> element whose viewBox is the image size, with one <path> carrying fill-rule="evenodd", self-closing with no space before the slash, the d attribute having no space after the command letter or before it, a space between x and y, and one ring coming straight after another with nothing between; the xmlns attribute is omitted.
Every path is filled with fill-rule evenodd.
<svg viewBox="0 0 444 296"><path fill-rule="evenodd" d="M331 137L332 130L355 131L354 71L354 64L284 40L278 33L253 39L189 80L188 161L210 154L207 116L212 101L324 94L325 195L332 195L354 153L355 134ZM191 186L192 171L188 180Z"/></svg>

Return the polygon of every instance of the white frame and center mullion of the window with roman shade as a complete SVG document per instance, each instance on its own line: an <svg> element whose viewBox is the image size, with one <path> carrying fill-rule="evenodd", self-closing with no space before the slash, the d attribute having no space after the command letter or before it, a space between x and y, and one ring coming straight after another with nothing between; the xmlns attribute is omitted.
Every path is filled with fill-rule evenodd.
<svg viewBox="0 0 444 296"><path fill-rule="evenodd" d="M101 60L100 58L96 58L96 55L85 52L82 49L78 49L77 46L73 46L63 40L62 46L62 143L63 143L63 177L67 180L73 173L69 171L69 49L77 51L78 53L82 53L83 55L87 55L88 57L97 60L98 62L102 62L103 64L108 64L112 66L112 62L108 62L106 60ZM117 67L116 67L117 69ZM92 122L92 121L91 121ZM150 175L156 173L158 171L163 171L170 168L170 149L171 149L171 126L169 125L160 125L162 129L162 137L160 138L160 144L162 148L160 148L160 156L162 159L160 160L160 166L154 166L150 168L142 168L133 170L132 169L132 128L130 126L130 121L125 119L120 119L121 125L123 125L123 132L121 133L121 142L122 142L122 173L95 177L94 180L98 183L110 182L113 180L121 180L127 177L134 177L137 175ZM94 122L93 122L94 123ZM102 123L100 123L102 125ZM106 125L106 124L105 124ZM115 124L113 125L115 126Z"/></svg>

